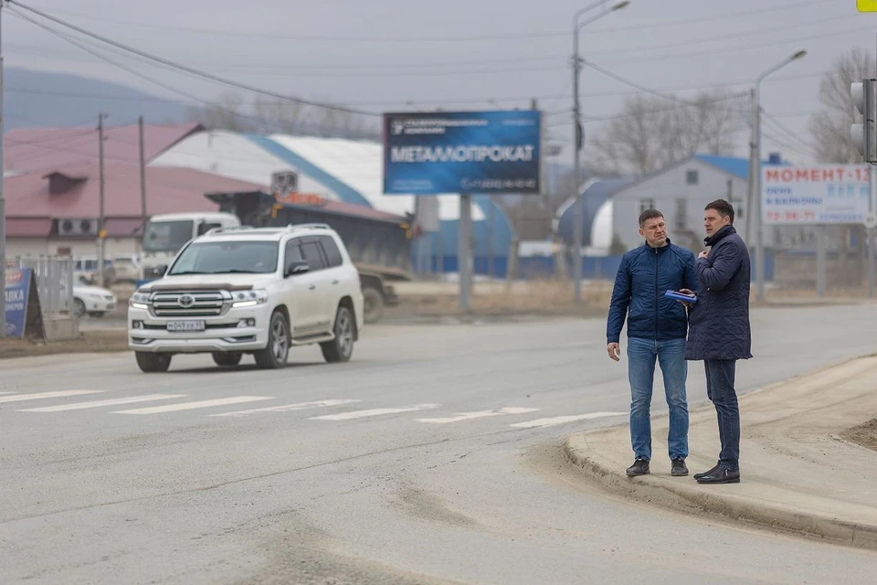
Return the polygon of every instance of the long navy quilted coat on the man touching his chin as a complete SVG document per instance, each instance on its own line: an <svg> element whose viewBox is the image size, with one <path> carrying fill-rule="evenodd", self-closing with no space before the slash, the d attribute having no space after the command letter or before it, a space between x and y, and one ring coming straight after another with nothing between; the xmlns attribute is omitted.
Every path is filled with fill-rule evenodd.
<svg viewBox="0 0 877 585"><path fill-rule="evenodd" d="M752 357L749 324L749 250L734 226L712 238L707 258L699 258L697 303L689 310L691 328L685 358L748 359Z"/></svg>

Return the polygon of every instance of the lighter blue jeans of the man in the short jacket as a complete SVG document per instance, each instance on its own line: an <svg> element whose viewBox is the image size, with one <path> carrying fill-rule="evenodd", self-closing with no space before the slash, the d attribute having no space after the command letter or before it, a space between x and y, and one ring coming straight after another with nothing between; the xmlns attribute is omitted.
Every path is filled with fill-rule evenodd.
<svg viewBox="0 0 877 585"><path fill-rule="evenodd" d="M655 360L664 378L670 431L667 446L671 459L688 457L688 401L685 380L685 340L628 339L628 377L630 379L630 441L634 454L651 461L651 393L655 379Z"/></svg>

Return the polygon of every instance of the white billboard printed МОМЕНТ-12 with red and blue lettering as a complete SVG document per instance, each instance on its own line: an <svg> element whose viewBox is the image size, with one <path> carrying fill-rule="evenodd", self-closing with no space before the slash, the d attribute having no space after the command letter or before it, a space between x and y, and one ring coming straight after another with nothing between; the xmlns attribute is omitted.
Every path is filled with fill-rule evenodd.
<svg viewBox="0 0 877 585"><path fill-rule="evenodd" d="M766 224L861 224L871 198L869 165L767 166Z"/></svg>

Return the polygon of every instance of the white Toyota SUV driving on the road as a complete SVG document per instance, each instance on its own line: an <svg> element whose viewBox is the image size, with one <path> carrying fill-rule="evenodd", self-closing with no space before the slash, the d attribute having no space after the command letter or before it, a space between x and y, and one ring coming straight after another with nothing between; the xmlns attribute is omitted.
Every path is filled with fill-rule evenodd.
<svg viewBox="0 0 877 585"><path fill-rule="evenodd" d="M128 309L128 345L144 372L195 353L225 367L252 354L277 368L290 346L312 344L326 361L346 362L363 329L359 273L324 224L213 229L160 273Z"/></svg>

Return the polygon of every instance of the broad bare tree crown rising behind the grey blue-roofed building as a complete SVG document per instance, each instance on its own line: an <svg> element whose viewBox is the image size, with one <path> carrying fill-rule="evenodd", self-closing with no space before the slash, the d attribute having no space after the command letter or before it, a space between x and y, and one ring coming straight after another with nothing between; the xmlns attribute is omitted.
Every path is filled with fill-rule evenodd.
<svg viewBox="0 0 877 585"><path fill-rule="evenodd" d="M599 174L645 175L692 154L729 154L745 126L743 97L714 91L690 103L638 95L589 141L588 165Z"/></svg>

